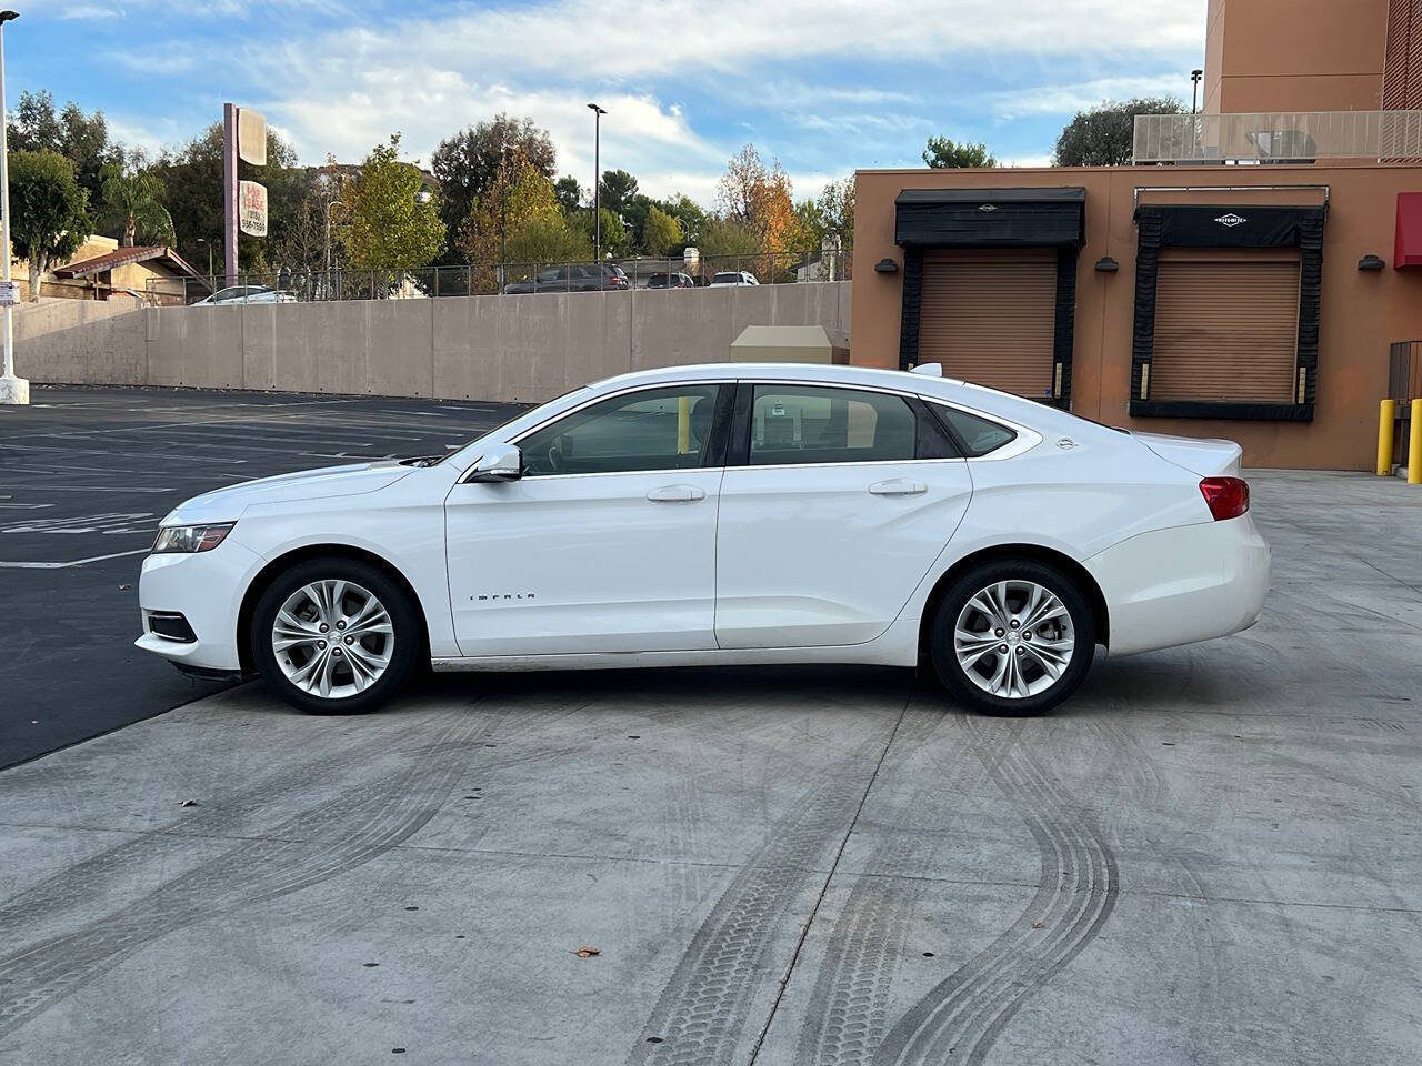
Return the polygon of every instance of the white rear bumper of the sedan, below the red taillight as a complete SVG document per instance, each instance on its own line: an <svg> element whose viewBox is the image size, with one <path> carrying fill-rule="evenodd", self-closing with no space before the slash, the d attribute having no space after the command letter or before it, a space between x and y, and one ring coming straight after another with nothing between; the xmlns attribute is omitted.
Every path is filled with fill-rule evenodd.
<svg viewBox="0 0 1422 1066"><path fill-rule="evenodd" d="M1111 615L1111 654L1227 637L1254 624L1270 550L1243 515L1123 540L1085 560Z"/></svg>

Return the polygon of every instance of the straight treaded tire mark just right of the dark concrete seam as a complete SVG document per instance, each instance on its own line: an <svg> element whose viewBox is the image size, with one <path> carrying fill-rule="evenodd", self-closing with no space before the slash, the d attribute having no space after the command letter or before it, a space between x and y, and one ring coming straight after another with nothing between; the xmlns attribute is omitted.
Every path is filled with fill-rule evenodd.
<svg viewBox="0 0 1422 1066"><path fill-rule="evenodd" d="M896 743L921 745L943 721L941 708L910 709ZM857 877L835 920L811 989L795 1062L857 1066L872 1062L883 1040L889 992L903 959L909 918L924 893L923 881L904 877L916 870L914 860L926 849L909 829L894 826L882 837L870 853L869 868L884 876Z"/></svg>

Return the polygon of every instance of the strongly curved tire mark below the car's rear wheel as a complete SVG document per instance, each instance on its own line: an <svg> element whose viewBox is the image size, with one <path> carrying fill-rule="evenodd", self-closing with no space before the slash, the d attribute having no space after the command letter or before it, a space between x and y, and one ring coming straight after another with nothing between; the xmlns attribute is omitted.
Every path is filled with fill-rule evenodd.
<svg viewBox="0 0 1422 1066"><path fill-rule="evenodd" d="M960 722L1037 841L1041 880L1005 932L899 1019L879 1046L880 1066L940 1063L950 1056L983 1063L1017 1011L1095 940L1119 891L1115 854L1020 743L1030 726L975 716Z"/></svg>

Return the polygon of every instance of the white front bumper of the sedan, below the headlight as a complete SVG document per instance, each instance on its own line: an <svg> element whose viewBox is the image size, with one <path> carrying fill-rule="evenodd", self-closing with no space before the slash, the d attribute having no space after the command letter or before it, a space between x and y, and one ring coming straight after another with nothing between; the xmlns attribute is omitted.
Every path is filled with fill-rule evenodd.
<svg viewBox="0 0 1422 1066"><path fill-rule="evenodd" d="M237 613L262 557L230 537L210 551L148 556L138 577L144 635L134 644L193 672L240 671ZM154 631L154 615L181 614L195 640Z"/></svg>

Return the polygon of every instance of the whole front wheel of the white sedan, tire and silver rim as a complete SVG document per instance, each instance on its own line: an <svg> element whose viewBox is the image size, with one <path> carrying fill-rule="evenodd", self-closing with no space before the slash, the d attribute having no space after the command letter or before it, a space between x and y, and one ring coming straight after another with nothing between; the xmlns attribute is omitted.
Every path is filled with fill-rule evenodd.
<svg viewBox="0 0 1422 1066"><path fill-rule="evenodd" d="M252 620L263 679L313 715L374 711L404 687L422 644L408 594L353 559L297 563L266 588Z"/></svg>

